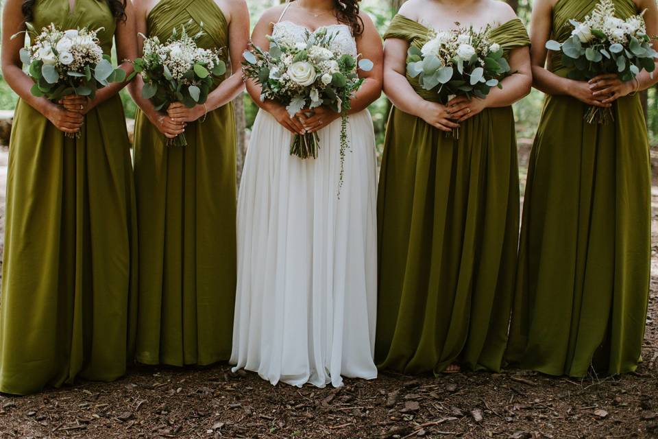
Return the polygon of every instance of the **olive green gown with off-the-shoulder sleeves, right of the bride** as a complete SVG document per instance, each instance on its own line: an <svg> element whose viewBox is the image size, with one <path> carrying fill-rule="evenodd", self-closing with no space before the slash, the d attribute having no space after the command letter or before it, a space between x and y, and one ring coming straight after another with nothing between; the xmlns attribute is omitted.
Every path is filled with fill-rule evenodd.
<svg viewBox="0 0 658 439"><path fill-rule="evenodd" d="M398 15L385 38L420 47L428 32ZM493 29L491 39L506 52L529 44L518 19ZM425 99L435 96L410 82ZM518 175L511 107L467 119L459 139L393 109L378 195L380 368L500 369L516 270Z"/></svg>

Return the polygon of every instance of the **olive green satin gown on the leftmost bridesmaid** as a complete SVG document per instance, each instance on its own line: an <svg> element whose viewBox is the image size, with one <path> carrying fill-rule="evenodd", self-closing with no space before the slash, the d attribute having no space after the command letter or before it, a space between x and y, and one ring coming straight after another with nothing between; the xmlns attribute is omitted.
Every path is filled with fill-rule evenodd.
<svg viewBox="0 0 658 439"><path fill-rule="evenodd" d="M117 23L106 2L38 0L34 26ZM136 212L130 143L118 95L69 139L19 101L7 178L0 299L0 391L36 392L75 377L111 381L132 359ZM136 291L135 291L136 292Z"/></svg>

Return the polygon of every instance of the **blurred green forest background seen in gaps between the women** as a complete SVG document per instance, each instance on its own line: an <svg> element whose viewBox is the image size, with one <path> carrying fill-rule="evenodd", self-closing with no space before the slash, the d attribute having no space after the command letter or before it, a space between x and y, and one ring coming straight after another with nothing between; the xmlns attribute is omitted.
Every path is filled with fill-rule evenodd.
<svg viewBox="0 0 658 439"><path fill-rule="evenodd" d="M249 9L252 15L252 27L258 21L260 14L277 3L281 3L284 0L247 0L249 3ZM502 0L501 0L502 1ZM363 0L361 1L361 8L370 14L373 21L376 23L380 34L384 34L387 29L391 19L395 15L395 12L398 11L400 5L404 3L404 0ZM517 11L517 14L520 18L528 25L530 24L530 14L533 6L533 0L507 0L512 8ZM642 102L644 104L644 110L646 115L646 122L649 130L649 139L651 145L658 143L658 86L651 88L648 91L642 93ZM125 106L126 117L132 119L135 114L135 105L134 102L130 99L127 94L127 91L121 93L123 98L123 103ZM16 104L16 95L12 93L9 86L2 80L0 75L0 110L13 110L14 105ZM533 93L522 99L521 102L515 104L515 118L517 121L517 134L520 139L532 139L535 134L535 129L537 128L537 122L539 120L539 115L541 113L541 107L543 104L543 95L539 91L533 90ZM390 109L390 103L386 97L381 97L377 102L372 104L370 111L375 123L375 130L377 135L377 148L378 152L381 152L382 143L384 141L384 132L386 128L386 121L388 117L388 112ZM236 121L238 124L239 132L245 132L248 137L248 133L254 119L256 117L256 112L258 107L252 99L244 93L244 95L236 99ZM240 136L240 145L238 158L241 161L243 154L245 152L245 138Z"/></svg>

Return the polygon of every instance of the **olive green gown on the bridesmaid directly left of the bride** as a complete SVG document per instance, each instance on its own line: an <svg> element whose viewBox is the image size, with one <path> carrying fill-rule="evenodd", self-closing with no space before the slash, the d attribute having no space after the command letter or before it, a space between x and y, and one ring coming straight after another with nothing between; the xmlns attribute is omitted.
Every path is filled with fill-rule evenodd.
<svg viewBox="0 0 658 439"><path fill-rule="evenodd" d="M213 0L162 0L148 18L162 42L173 27L228 53ZM188 145L167 146L142 112L135 123L139 237L137 360L207 365L231 355L236 287L236 158L232 105L188 123Z"/></svg>

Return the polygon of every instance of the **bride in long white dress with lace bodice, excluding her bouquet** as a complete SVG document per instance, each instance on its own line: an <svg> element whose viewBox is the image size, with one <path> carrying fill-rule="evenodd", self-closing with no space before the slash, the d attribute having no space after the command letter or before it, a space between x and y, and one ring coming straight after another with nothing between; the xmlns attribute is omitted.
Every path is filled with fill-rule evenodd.
<svg viewBox="0 0 658 439"><path fill-rule="evenodd" d="M297 0L265 12L252 39L304 40L306 29L337 33L344 52L375 68L352 99L350 150L341 171L341 121L324 107L302 120L260 102L238 200L238 283L231 364L272 384L338 387L342 377L374 379L376 158L367 106L382 88L382 43L357 0ZM356 39L353 35L356 35ZM317 159L289 154L294 133L317 131Z"/></svg>

